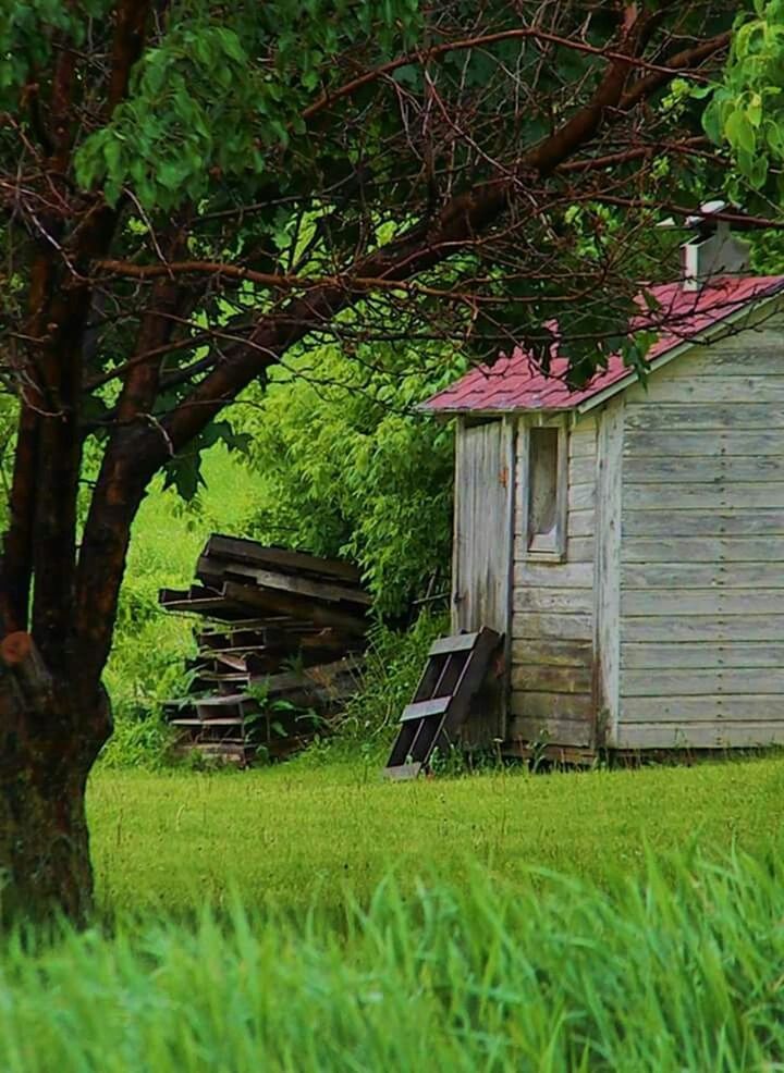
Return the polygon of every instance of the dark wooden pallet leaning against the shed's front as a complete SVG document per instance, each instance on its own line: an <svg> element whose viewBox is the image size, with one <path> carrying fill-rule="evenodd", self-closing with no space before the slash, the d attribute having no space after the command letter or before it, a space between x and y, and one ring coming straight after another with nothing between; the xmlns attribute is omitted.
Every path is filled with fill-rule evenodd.
<svg viewBox="0 0 784 1073"><path fill-rule="evenodd" d="M446 751L470 711L502 634L482 627L478 633L439 638L428 655L414 699L403 710L384 776L416 778L438 749Z"/></svg>

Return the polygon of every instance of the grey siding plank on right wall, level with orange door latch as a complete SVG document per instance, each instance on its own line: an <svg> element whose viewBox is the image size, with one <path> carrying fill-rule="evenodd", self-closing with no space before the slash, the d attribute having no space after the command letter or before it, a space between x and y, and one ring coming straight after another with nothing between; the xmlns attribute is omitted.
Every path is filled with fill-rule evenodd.
<svg viewBox="0 0 784 1073"><path fill-rule="evenodd" d="M677 455L627 457L624 478L630 484L724 483L751 484L784 481L784 436L780 455Z"/></svg>

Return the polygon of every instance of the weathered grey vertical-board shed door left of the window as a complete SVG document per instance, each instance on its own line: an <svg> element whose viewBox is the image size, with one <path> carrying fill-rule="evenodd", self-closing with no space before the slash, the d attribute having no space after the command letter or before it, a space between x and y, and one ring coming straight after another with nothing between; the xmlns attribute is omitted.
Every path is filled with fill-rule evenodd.
<svg viewBox="0 0 784 1073"><path fill-rule="evenodd" d="M457 429L454 631L489 626L509 632L514 504L510 419Z"/></svg>

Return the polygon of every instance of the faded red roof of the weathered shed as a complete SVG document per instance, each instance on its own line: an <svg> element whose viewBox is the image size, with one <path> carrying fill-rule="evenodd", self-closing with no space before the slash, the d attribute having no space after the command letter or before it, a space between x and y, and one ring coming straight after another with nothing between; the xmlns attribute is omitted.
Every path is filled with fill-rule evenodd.
<svg viewBox="0 0 784 1073"><path fill-rule="evenodd" d="M784 275L727 276L699 291L685 291L682 283L652 286L659 308L640 314L633 330L657 330L659 337L646 358L653 361L683 342L699 343L700 333L732 317L746 306L784 289ZM478 366L456 383L440 391L424 404L434 412L483 412L510 410L574 409L613 384L635 382L634 371L620 354L610 358L585 387L571 390L564 383L567 358L554 357L549 375L536 360L517 347L511 357L500 357L493 366ZM621 387L618 386L618 390Z"/></svg>

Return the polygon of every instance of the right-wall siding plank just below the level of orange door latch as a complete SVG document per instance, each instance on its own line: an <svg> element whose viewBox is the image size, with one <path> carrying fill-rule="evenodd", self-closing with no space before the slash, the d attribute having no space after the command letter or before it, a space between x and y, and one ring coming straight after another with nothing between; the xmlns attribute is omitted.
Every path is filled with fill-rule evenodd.
<svg viewBox="0 0 784 1073"><path fill-rule="evenodd" d="M624 485L624 507L628 510L751 510L784 507L784 482L705 482L695 484L651 483Z"/></svg>

